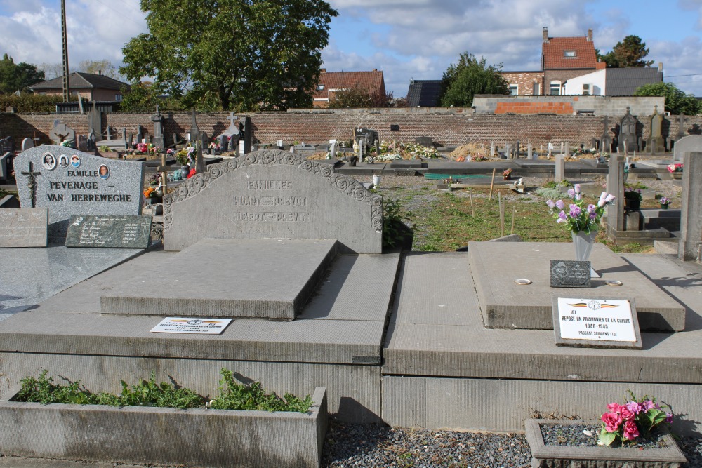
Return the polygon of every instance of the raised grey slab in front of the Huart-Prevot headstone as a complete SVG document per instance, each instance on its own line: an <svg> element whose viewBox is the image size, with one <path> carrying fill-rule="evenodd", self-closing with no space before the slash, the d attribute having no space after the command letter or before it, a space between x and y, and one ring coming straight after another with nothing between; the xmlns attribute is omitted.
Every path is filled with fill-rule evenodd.
<svg viewBox="0 0 702 468"><path fill-rule="evenodd" d="M183 282L154 288L133 272L129 293L102 295L102 314L294 320L336 256L336 241L202 239L160 268Z"/></svg>

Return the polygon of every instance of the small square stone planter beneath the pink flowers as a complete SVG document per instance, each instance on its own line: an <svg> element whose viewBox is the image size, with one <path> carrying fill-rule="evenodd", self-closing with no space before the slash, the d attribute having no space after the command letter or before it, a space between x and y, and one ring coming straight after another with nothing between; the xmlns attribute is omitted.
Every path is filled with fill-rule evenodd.
<svg viewBox="0 0 702 468"><path fill-rule="evenodd" d="M547 424L582 424L576 420L524 421L527 442L531 448L532 468L678 468L687 458L670 434L663 436L663 448L611 448L581 446L546 446L540 427ZM600 423L595 423L600 425Z"/></svg>

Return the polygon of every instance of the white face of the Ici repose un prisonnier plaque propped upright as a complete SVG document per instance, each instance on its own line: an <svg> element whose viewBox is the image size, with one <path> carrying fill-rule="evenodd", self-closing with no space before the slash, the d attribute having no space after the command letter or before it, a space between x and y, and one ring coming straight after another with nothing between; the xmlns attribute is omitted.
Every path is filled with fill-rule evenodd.
<svg viewBox="0 0 702 468"><path fill-rule="evenodd" d="M558 316L566 340L636 341L628 300L559 297Z"/></svg>

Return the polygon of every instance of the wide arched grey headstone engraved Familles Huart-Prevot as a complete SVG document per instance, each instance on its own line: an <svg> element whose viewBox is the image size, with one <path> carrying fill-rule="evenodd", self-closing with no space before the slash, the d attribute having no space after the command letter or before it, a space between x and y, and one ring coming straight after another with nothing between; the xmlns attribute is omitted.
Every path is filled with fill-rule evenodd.
<svg viewBox="0 0 702 468"><path fill-rule="evenodd" d="M263 149L212 164L164 196L164 248L206 237L336 239L343 250L380 253L380 196L326 163Z"/></svg>

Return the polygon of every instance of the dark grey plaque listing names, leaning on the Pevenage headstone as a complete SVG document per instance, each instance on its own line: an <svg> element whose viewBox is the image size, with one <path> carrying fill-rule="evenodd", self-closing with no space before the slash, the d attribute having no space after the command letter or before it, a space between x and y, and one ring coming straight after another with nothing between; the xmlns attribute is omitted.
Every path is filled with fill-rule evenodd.
<svg viewBox="0 0 702 468"><path fill-rule="evenodd" d="M151 216L74 215L66 247L147 248L150 239Z"/></svg>

